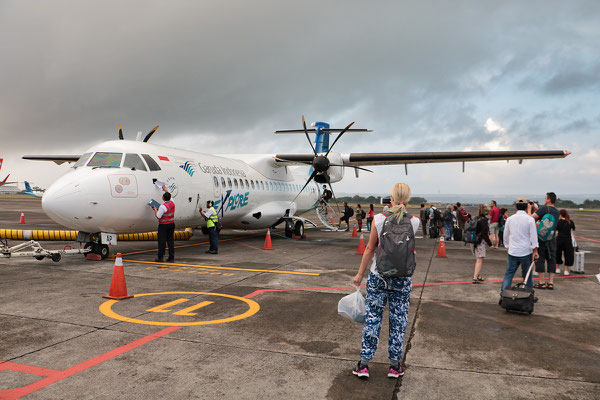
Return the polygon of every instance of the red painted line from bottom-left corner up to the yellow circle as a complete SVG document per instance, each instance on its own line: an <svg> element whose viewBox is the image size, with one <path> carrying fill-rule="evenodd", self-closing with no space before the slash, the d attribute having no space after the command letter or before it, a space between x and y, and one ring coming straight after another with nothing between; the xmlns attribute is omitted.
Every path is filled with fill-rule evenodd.
<svg viewBox="0 0 600 400"><path fill-rule="evenodd" d="M108 351L97 357L93 357L82 363L73 365L72 367L69 367L63 371L53 371L53 372L51 372L51 375L43 374L42 376L46 376L45 378L40 379L39 381L29 384L27 386L23 386L20 388L14 388L14 389L0 390L0 399L13 400L13 399L18 399L20 397L26 396L30 393L33 393L35 391L45 388L48 385L52 385L53 383L56 383L65 378L68 378L69 376L75 375L81 371L84 371L88 368L91 368L100 363L103 363L104 361L110 360L111 358L114 358L118 355L121 355L121 354L126 353L130 350L133 350L137 347L140 347L148 342L151 342L155 339L158 339L160 337L168 335L169 333L173 333L179 329L181 329L181 326L170 326L170 327L162 329L156 333L151 333L150 335L144 336L143 338L134 340L133 342L127 343L126 345L123 345L121 347L117 347L116 349ZM10 363L10 364L14 364L14 363ZM0 364L0 366L3 366L3 365L4 365L4 363ZM21 364L17 364L17 365L21 365ZM21 368L21 367L16 367L16 368ZM30 368L32 368L32 371L36 370L37 372L42 372L41 370L52 371L52 370L45 370L44 368L38 369L37 367L30 367ZM9 365L9 368L5 368L5 370L16 371L16 369L12 368L12 365ZM25 371L19 371L19 372L25 372ZM35 375L40 375L36 372L32 372L32 373Z"/></svg>

